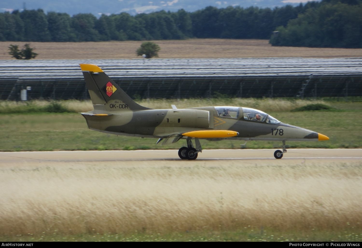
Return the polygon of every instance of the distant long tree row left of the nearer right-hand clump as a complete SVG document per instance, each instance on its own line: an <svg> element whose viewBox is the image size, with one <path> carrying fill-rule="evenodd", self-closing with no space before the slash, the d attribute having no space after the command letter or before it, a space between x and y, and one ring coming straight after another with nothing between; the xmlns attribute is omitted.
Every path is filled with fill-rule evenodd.
<svg viewBox="0 0 362 248"><path fill-rule="evenodd" d="M282 8L228 7L186 12L159 11L131 16L48 12L42 9L0 13L0 41L82 42L177 40L185 38L270 38L316 2Z"/></svg>

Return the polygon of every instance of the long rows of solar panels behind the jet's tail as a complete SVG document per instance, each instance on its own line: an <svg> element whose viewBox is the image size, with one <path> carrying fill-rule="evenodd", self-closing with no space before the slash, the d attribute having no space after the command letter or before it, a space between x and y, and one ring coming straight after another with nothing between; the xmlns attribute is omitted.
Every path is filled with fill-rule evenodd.
<svg viewBox="0 0 362 248"><path fill-rule="evenodd" d="M88 99L79 63L134 98L362 95L362 58L0 60L0 99Z"/></svg>

